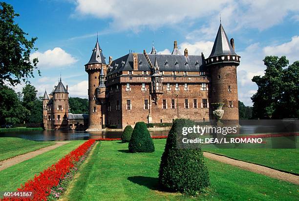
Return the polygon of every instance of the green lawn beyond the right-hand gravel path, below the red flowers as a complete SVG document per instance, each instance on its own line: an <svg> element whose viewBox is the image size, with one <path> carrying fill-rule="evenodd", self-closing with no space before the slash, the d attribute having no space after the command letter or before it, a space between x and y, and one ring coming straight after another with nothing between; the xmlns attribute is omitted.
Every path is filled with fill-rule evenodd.
<svg viewBox="0 0 299 201"><path fill-rule="evenodd" d="M299 174L299 149L204 149L204 151Z"/></svg>

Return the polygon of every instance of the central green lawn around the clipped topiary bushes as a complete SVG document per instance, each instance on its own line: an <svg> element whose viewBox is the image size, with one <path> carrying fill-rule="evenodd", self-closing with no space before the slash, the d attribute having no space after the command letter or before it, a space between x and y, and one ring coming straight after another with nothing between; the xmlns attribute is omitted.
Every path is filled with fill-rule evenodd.
<svg viewBox="0 0 299 201"><path fill-rule="evenodd" d="M102 141L81 167L64 200L194 200L159 191L158 168L165 140L154 153L128 153L128 143ZM211 187L200 200L298 200L298 185L206 159ZM291 161L290 161L291 162Z"/></svg>

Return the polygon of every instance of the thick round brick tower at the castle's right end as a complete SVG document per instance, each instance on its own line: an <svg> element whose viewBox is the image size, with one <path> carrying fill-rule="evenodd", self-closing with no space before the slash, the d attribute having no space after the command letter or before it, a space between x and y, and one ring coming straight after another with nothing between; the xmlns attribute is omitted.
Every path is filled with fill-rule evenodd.
<svg viewBox="0 0 299 201"><path fill-rule="evenodd" d="M236 67L240 64L240 56L235 53L234 39L229 42L220 24L211 55L206 59L211 75L211 102L223 102L222 120L237 123L238 91Z"/></svg>

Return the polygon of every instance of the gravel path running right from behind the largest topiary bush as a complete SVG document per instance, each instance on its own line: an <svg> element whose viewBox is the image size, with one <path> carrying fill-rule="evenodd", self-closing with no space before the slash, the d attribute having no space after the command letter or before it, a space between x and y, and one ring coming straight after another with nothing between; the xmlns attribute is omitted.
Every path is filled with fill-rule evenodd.
<svg viewBox="0 0 299 201"><path fill-rule="evenodd" d="M256 172L258 174L266 175L268 177L272 177L272 178L275 178L278 180L288 181L288 182L295 183L295 184L299 185L299 176L296 176L293 174L281 172L281 171L278 171L278 170L275 170L275 169L272 169L269 167L256 165L256 164L253 164L250 162L244 162L244 161L238 161L235 159L230 159L225 156L219 156L217 154L212 154L209 152L204 152L204 156L207 157L208 159L211 159L214 161L227 163L230 165L237 166L244 170L249 170L251 172Z"/></svg>

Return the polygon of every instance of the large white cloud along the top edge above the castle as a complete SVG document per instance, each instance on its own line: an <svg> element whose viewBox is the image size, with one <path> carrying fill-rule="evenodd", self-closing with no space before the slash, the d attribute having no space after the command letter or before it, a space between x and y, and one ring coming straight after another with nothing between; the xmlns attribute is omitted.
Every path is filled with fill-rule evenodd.
<svg viewBox="0 0 299 201"><path fill-rule="evenodd" d="M208 13L219 13L233 0L76 0L73 16L93 16L111 19L110 25L118 30L138 31L144 26L157 28L197 18Z"/></svg>

